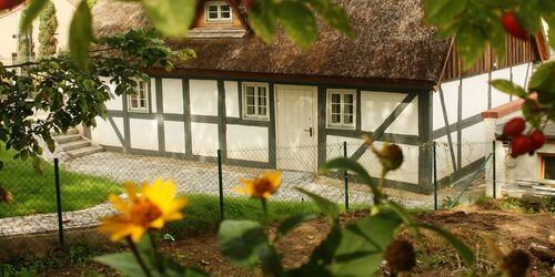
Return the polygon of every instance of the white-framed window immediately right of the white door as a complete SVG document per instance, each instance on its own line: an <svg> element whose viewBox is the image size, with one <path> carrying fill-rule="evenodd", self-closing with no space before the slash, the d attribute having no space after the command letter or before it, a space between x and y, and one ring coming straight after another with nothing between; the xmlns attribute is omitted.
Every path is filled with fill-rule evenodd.
<svg viewBox="0 0 555 277"><path fill-rule="evenodd" d="M355 127L356 93L354 90L327 90L327 125Z"/></svg>

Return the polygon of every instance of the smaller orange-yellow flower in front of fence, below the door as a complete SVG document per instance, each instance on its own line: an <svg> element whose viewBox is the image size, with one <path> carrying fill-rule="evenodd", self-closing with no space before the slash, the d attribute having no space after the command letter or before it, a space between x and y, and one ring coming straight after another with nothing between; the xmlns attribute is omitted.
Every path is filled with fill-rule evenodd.
<svg viewBox="0 0 555 277"><path fill-rule="evenodd" d="M281 185L281 172L265 172L260 177L253 179L240 178L239 182L243 183L245 186L233 187L233 192L246 194L260 199L268 199Z"/></svg>

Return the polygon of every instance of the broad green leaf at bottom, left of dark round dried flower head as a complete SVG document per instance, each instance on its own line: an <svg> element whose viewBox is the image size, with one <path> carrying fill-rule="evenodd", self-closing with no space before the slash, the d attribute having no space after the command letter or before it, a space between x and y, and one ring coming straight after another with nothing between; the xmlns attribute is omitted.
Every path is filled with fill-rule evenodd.
<svg viewBox="0 0 555 277"><path fill-rule="evenodd" d="M384 252L401 223L396 214L383 209L347 225L341 232L335 263L330 265L330 270L335 276L372 276L382 265Z"/></svg>

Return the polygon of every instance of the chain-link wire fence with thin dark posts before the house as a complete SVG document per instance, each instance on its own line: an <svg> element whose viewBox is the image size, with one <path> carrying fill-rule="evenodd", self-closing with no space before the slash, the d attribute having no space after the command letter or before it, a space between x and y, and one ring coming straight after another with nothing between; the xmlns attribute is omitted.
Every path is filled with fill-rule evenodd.
<svg viewBox="0 0 555 277"><path fill-rule="evenodd" d="M381 143L375 146L380 148ZM193 153L186 158L183 155L100 152L63 158L59 162L59 171L53 163L44 162L42 175L33 172L29 161L4 161L0 184L13 194L14 199L10 205L0 205L0 236L56 232L60 225L64 228L98 225L99 217L114 213L107 195L123 194L125 181L142 183L172 178L180 194L221 198L223 202L213 202L213 208L222 211L222 217L236 218L236 214L230 213L233 207L226 204L249 199L232 188L241 186L241 178L251 179L276 167L282 172L282 185L272 196L271 212L286 213L285 209L291 207L295 211L314 208L295 187L317 193L347 209L367 207L372 194L356 176L344 172L317 172L319 152L325 151L326 160L356 158L377 183L381 164L365 147L361 142L351 141L327 143L325 147L279 147L275 153L270 153L269 148ZM448 208L480 197L488 186L484 174L492 171L492 143L401 147L404 163L387 174L385 193L406 207Z"/></svg>

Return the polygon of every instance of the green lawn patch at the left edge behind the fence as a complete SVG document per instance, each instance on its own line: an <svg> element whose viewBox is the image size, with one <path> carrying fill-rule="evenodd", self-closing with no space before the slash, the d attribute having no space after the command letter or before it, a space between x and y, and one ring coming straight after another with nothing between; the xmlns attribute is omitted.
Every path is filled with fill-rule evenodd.
<svg viewBox="0 0 555 277"><path fill-rule="evenodd" d="M3 145L0 145L3 148ZM1 151L0 185L13 194L10 205L0 205L0 217L56 212L56 182L53 165L44 163L43 174L38 174L32 161L13 160L13 151ZM92 207L107 201L108 195L123 192L122 184L105 177L90 176L60 170L63 211Z"/></svg>

